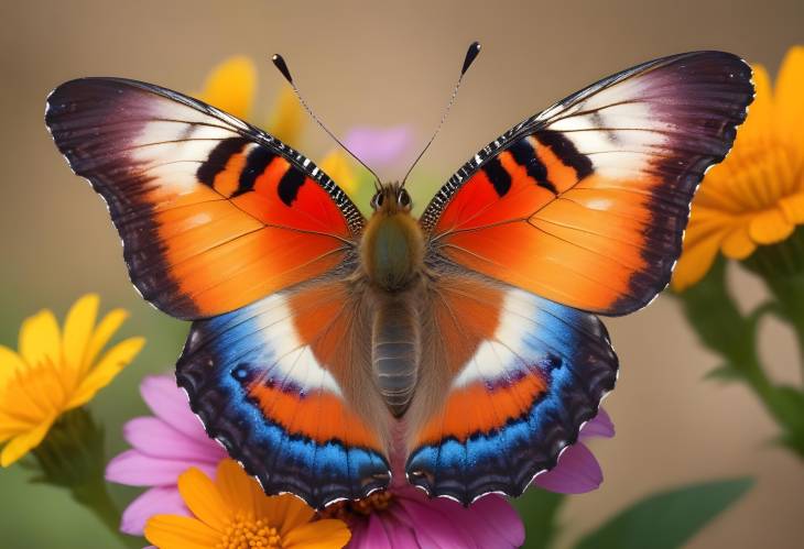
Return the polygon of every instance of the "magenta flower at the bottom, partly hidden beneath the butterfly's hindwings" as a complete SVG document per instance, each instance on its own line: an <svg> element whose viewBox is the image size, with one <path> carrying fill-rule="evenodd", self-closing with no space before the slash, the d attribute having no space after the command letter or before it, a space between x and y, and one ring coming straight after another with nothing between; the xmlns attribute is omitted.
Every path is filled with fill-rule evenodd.
<svg viewBox="0 0 804 549"><path fill-rule="evenodd" d="M579 441L562 453L558 464L540 474L533 485L551 492L578 494L602 482L600 465L583 443L590 437L612 437L613 425L600 409L580 431ZM398 458L398 457L396 457ZM401 464L393 460L394 466ZM396 474L394 479L403 475ZM508 499L489 494L468 507L398 482L357 502L339 502L320 513L346 520L352 529L350 548L512 548L524 542L524 526Z"/></svg>

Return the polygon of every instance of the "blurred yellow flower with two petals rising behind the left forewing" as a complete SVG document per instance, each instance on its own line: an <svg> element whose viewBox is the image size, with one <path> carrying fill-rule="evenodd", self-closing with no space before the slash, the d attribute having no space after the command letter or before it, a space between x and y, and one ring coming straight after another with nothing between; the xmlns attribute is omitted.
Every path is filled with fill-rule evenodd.
<svg viewBox="0 0 804 549"><path fill-rule="evenodd" d="M253 119L257 96L257 67L245 56L229 57L213 68L198 98L243 120ZM268 130L284 143L296 147L305 121L293 89L284 86L270 117ZM259 124L258 124L259 125Z"/></svg>

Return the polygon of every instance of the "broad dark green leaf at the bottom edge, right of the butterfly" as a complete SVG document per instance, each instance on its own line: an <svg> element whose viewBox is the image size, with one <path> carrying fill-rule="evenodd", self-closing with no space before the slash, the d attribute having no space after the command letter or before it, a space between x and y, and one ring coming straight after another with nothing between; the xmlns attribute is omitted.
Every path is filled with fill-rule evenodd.
<svg viewBox="0 0 804 549"><path fill-rule="evenodd" d="M586 535L576 549L682 547L742 496L752 479L694 484L648 496Z"/></svg>

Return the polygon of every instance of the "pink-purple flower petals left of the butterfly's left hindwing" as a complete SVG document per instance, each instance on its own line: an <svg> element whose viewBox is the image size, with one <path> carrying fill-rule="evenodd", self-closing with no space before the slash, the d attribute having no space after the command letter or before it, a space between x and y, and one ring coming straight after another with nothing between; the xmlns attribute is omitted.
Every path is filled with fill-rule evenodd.
<svg viewBox="0 0 804 549"><path fill-rule="evenodd" d="M145 377L140 394L154 416L126 424L123 437L133 448L113 458L106 469L108 481L150 486L122 515L120 530L137 536L153 515L189 516L176 486L178 475L196 468L211 476L227 457L191 411L187 396L173 377Z"/></svg>

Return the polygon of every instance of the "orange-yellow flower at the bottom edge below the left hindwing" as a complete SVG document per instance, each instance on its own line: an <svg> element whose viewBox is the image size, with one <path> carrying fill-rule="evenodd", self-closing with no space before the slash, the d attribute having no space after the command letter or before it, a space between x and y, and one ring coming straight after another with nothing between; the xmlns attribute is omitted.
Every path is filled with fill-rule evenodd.
<svg viewBox="0 0 804 549"><path fill-rule="evenodd" d="M295 496L267 496L232 460L220 462L215 481L189 469L178 492L195 516L151 517L145 538L160 549L328 549L351 537L343 520L311 523L315 513Z"/></svg>

